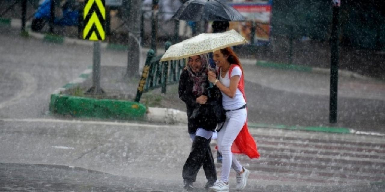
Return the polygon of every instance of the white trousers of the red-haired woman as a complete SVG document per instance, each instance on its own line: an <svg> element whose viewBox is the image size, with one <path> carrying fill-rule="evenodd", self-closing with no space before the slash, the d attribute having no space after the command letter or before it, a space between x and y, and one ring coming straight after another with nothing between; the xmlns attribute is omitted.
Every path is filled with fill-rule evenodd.
<svg viewBox="0 0 385 192"><path fill-rule="evenodd" d="M221 180L223 182L229 182L231 167L237 173L242 171L241 164L234 154L231 153L231 145L238 136L239 131L242 130L243 125L246 123L247 111L246 109L229 111L226 112L226 117L222 129L218 132L218 151L222 154ZM222 125L218 125L218 127L221 126Z"/></svg>

